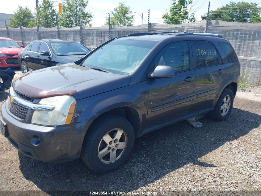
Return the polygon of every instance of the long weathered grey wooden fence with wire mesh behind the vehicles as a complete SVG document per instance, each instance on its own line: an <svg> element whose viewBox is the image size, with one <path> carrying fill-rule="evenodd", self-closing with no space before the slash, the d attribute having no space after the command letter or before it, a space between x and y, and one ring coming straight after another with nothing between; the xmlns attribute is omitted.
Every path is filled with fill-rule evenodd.
<svg viewBox="0 0 261 196"><path fill-rule="evenodd" d="M231 14L232 11L227 11ZM241 8L240 13L248 13L249 8ZM64 39L81 42L83 45L93 50L105 41L114 37L126 36L131 33L156 33L156 32L187 32L187 33L215 33L227 39L234 47L241 63L242 80L251 72L248 79L251 85L261 85L261 23L239 23L225 22L220 19L224 13L209 14L206 12L206 20L189 23L179 21L179 24L155 24L150 22L148 10L148 23L138 26L122 27L117 25L104 25L102 27L89 27L80 25L66 28L55 26L51 28L0 28L0 37L10 37L19 44L27 46L37 39ZM179 14L179 11L177 11ZM188 15L187 15L188 16ZM249 15L234 15L235 21L249 20ZM238 17L235 19L235 17ZM173 19L174 20L174 19ZM181 18L183 20L183 18ZM56 21L58 24L58 21ZM175 18L175 23L177 23ZM51 26L51 25L50 25Z"/></svg>

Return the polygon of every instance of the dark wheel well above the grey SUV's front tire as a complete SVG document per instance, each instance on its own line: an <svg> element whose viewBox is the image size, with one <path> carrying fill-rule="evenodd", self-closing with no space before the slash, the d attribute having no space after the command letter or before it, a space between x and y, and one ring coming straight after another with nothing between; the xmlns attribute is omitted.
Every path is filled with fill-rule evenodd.
<svg viewBox="0 0 261 196"><path fill-rule="evenodd" d="M133 109L132 107L117 107L117 108L114 108L112 110L109 110L109 111L103 113L102 115L104 115L104 114L119 115L119 116L122 116L123 118L127 119L133 126L135 136L138 136L139 128L140 128L140 118L139 118L138 112L135 109ZM100 115L100 116L102 116L102 115ZM97 119L99 119L99 117Z"/></svg>

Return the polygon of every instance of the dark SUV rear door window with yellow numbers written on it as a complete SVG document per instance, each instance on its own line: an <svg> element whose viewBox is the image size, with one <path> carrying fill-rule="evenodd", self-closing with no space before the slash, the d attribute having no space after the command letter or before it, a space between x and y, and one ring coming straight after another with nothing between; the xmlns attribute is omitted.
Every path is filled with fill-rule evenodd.
<svg viewBox="0 0 261 196"><path fill-rule="evenodd" d="M216 48L207 41L192 41L196 68L219 65L221 60Z"/></svg>

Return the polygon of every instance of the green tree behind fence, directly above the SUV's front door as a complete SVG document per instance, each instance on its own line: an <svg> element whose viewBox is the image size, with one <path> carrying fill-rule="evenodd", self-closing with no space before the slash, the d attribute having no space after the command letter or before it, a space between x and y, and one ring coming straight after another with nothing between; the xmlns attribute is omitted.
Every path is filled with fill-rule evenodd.
<svg viewBox="0 0 261 196"><path fill-rule="evenodd" d="M173 0L170 10L162 15L165 24L184 24L187 22L195 22L194 13L190 13L192 0Z"/></svg>

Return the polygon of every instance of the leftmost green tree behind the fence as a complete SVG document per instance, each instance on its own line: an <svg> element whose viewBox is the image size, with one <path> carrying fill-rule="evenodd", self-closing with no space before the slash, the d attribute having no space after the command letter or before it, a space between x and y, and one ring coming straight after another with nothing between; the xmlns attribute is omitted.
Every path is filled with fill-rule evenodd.
<svg viewBox="0 0 261 196"><path fill-rule="evenodd" d="M18 6L16 11L14 11L13 18L9 20L9 26L12 28L17 28L19 26L32 28L35 27L34 15L28 7Z"/></svg>

